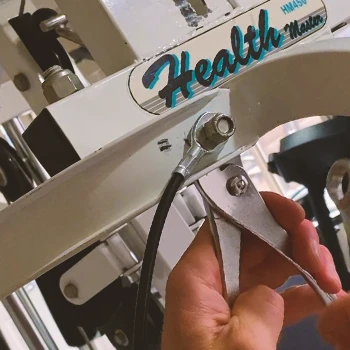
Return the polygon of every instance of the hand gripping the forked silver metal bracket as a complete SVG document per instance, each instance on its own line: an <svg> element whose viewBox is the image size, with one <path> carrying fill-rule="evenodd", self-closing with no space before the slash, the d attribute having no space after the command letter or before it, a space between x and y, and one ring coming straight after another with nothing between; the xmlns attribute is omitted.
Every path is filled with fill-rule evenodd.
<svg viewBox="0 0 350 350"><path fill-rule="evenodd" d="M341 289L329 251L319 244L304 210L273 193L263 198L276 221L290 234L293 258L328 293ZM219 263L206 223L169 276L163 350L272 350L283 325L317 312L322 304L309 286L274 291L297 270L266 243L244 232L241 295L231 310L222 296Z"/></svg>

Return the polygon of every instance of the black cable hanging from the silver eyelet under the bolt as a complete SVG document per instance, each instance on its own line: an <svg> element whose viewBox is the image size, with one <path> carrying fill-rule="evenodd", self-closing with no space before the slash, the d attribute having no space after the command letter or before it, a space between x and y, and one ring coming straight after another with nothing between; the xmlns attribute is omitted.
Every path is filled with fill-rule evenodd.
<svg viewBox="0 0 350 350"><path fill-rule="evenodd" d="M181 174L175 173L172 175L158 204L157 211L154 215L152 226L149 231L136 299L133 336L134 350L146 349L147 316L151 297L153 270L156 262L158 246L170 206L183 181L184 177Z"/></svg>

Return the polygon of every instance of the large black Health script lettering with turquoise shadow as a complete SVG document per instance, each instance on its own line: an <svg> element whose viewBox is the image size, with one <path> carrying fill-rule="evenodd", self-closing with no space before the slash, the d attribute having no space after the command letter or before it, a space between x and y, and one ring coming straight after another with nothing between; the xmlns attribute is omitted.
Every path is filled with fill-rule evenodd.
<svg viewBox="0 0 350 350"><path fill-rule="evenodd" d="M246 34L238 26L231 29L231 50L220 50L213 61L200 59L190 69L191 55L183 51L181 57L175 54L165 54L154 62L142 77L143 86L153 89L159 82L159 76L168 67L168 83L158 92L165 100L168 108L175 107L176 94L181 92L186 99L191 98L194 92L193 83L198 82L204 87L215 86L219 78L236 74L241 67L251 65L254 61L262 60L267 52L280 48L284 35L276 28L269 26L269 14L261 10L259 14L259 28L249 26ZM248 51L244 54L244 45L248 44Z"/></svg>

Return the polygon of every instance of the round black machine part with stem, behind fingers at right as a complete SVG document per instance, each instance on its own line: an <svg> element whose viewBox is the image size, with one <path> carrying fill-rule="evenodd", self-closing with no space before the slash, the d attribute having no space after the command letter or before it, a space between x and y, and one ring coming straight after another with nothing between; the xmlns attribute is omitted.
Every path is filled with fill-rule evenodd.
<svg viewBox="0 0 350 350"><path fill-rule="evenodd" d="M350 120L338 116L281 140L280 152L270 155L268 169L308 189L321 240L332 253L343 288L349 290L350 274L324 199L328 172L341 158L350 158Z"/></svg>

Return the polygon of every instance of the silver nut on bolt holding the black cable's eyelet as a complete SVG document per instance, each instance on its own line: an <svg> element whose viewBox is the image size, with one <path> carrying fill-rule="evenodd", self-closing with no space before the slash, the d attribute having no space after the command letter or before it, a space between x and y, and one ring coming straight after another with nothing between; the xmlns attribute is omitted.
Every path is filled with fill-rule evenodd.
<svg viewBox="0 0 350 350"><path fill-rule="evenodd" d="M210 141L222 143L227 141L234 133L235 123L227 115L217 114L204 125L205 135Z"/></svg>

